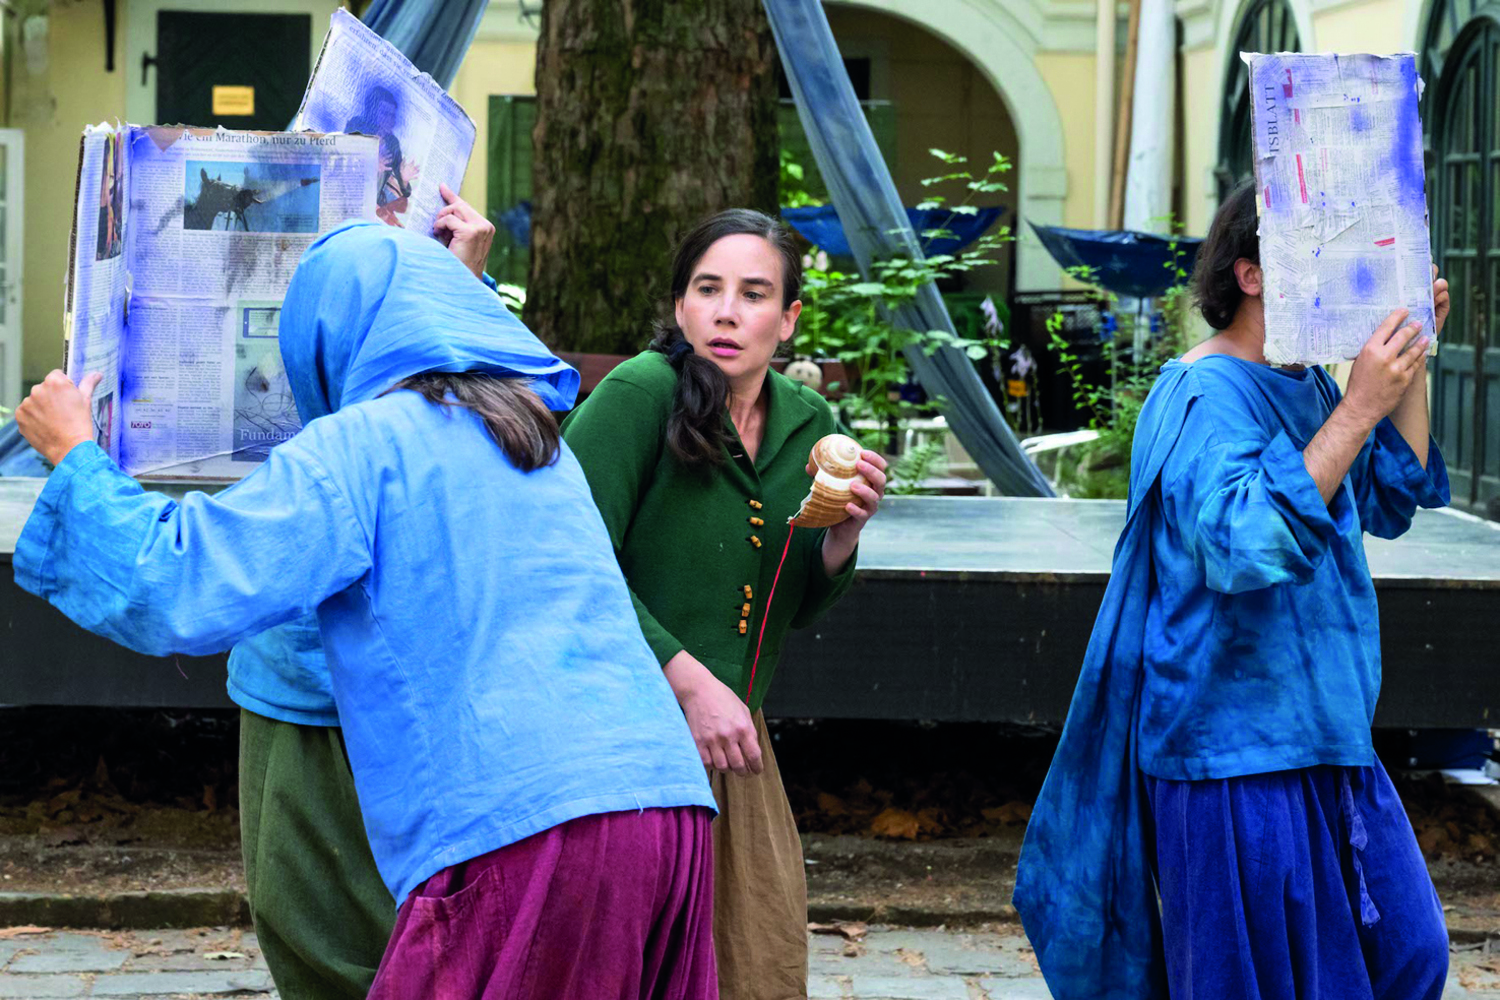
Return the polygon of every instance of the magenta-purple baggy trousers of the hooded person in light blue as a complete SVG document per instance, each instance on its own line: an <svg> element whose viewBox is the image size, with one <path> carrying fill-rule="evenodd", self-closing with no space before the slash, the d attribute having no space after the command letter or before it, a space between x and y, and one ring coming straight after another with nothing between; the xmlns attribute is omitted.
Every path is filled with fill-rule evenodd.
<svg viewBox="0 0 1500 1000"><path fill-rule="evenodd" d="M717 1000L711 820L585 816L444 868L396 913L369 1000Z"/></svg>

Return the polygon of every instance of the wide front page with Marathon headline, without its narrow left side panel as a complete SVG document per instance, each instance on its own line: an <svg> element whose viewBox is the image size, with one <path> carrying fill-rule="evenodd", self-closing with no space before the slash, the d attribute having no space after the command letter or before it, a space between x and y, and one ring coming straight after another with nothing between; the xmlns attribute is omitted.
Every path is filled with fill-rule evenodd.
<svg viewBox="0 0 1500 1000"><path fill-rule="evenodd" d="M120 465L170 481L248 475L300 429L276 339L320 232L375 214L363 135L130 130L130 297Z"/></svg>

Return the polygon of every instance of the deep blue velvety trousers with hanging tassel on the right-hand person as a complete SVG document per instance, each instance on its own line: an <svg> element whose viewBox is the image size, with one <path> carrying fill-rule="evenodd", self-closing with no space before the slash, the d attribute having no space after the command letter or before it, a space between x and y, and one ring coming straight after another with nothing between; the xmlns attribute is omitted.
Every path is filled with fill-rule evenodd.
<svg viewBox="0 0 1500 1000"><path fill-rule="evenodd" d="M1148 778L1173 1000L1437 1000L1448 930L1390 778Z"/></svg>

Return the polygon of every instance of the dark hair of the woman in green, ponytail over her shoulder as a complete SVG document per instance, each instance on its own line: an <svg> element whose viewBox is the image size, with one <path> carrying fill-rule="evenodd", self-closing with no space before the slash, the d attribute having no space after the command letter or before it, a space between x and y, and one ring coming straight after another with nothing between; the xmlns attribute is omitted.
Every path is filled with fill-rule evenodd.
<svg viewBox="0 0 1500 1000"><path fill-rule="evenodd" d="M676 396L666 420L666 444L684 465L710 468L724 459L729 429L724 406L729 403L729 378L693 351L672 319L676 303L687 295L693 268L726 235L758 235L782 255L782 309L789 309L802 294L802 258L790 231L776 219L750 208L729 208L699 222L682 237L672 258L672 295L668 318L657 324L650 349L664 354L676 370Z"/></svg>

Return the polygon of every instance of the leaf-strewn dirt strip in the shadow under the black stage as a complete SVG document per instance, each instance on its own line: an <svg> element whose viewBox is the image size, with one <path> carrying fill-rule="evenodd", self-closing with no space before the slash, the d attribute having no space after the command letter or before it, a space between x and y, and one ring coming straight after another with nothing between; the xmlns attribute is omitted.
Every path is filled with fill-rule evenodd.
<svg viewBox="0 0 1500 1000"><path fill-rule="evenodd" d="M237 718L0 709L0 891L243 888ZM890 924L1010 907L1052 738L987 726L777 723L814 913ZM1500 936L1500 817L1395 775L1450 927Z"/></svg>

